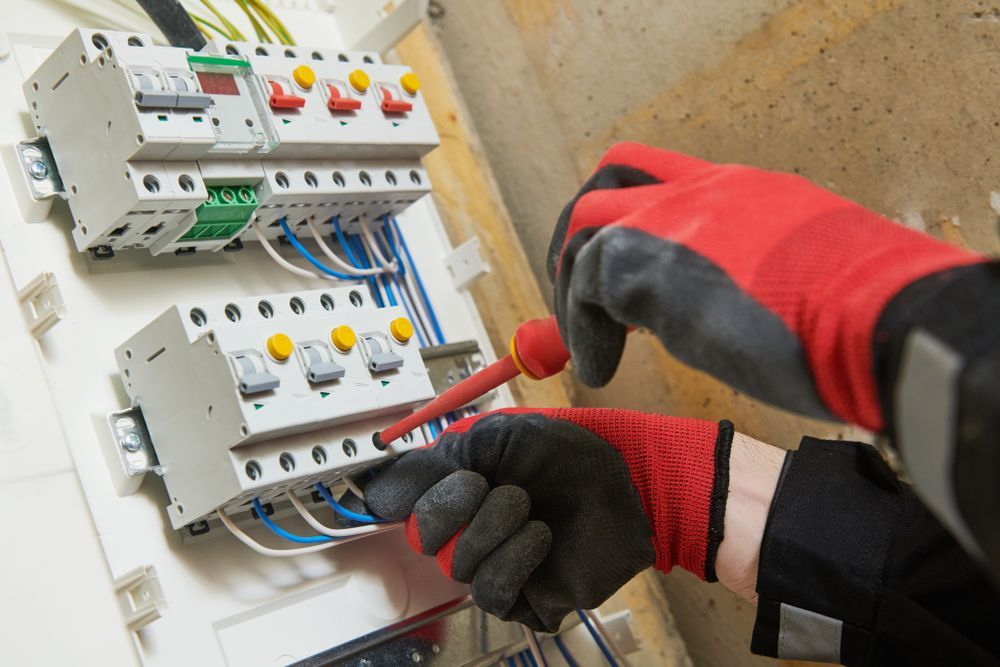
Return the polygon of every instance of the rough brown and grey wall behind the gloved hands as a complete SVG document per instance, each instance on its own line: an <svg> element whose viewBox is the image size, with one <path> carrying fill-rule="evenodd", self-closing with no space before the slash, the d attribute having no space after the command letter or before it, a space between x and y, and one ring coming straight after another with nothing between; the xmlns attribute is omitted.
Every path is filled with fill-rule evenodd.
<svg viewBox="0 0 1000 667"><path fill-rule="evenodd" d="M644 141L795 171L932 234L1000 251L1000 3L441 0L436 21L533 270L605 148ZM631 337L616 405L732 419L792 447L857 437L761 405ZM752 664L753 609L663 578L696 664Z"/></svg>

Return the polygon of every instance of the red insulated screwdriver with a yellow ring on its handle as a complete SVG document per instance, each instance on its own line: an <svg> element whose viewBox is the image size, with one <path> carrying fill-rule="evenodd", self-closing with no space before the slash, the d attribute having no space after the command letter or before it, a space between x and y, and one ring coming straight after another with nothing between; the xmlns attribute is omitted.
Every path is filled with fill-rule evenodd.
<svg viewBox="0 0 1000 667"><path fill-rule="evenodd" d="M404 434L467 405L518 375L541 380L560 372L568 361L569 350L559 336L555 315L528 320L518 326L511 337L510 354L473 373L413 414L376 433L372 441L378 449L385 449Z"/></svg>

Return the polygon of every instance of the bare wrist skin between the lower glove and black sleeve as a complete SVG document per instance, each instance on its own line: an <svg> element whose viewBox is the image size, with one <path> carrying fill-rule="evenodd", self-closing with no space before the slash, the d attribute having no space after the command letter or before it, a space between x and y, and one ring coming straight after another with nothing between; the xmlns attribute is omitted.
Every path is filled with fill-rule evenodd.
<svg viewBox="0 0 1000 667"><path fill-rule="evenodd" d="M785 452L742 433L733 436L724 536L715 559L719 582L757 601L760 545Z"/></svg>

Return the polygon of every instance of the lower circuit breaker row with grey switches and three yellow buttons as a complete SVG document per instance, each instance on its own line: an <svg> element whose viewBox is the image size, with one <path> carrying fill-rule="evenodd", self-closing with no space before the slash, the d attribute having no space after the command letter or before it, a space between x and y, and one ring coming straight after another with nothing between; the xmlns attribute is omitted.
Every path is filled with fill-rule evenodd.
<svg viewBox="0 0 1000 667"><path fill-rule="evenodd" d="M434 396L402 308L353 287L182 304L115 350L174 528L381 463L373 434Z"/></svg>

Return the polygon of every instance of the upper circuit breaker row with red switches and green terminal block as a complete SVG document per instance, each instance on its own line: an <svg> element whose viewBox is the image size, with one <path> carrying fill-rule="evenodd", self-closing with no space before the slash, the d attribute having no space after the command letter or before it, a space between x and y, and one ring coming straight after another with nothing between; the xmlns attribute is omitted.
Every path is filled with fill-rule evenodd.
<svg viewBox="0 0 1000 667"><path fill-rule="evenodd" d="M313 220L329 232L430 191L438 136L409 68L376 53L76 30L24 84L95 257L217 251Z"/></svg>

